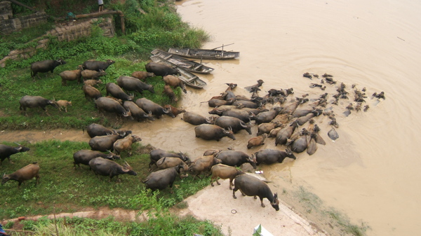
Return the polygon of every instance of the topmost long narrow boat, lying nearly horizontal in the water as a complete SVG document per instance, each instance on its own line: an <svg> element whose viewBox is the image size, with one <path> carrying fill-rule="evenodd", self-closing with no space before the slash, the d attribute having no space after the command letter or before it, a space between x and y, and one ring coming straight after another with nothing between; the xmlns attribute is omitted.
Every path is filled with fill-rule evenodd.
<svg viewBox="0 0 421 236"><path fill-rule="evenodd" d="M179 55L181 57L192 57L200 59L234 59L239 57L239 52L225 51L225 50L213 50L213 49L199 49L199 48L170 48L168 53Z"/></svg>

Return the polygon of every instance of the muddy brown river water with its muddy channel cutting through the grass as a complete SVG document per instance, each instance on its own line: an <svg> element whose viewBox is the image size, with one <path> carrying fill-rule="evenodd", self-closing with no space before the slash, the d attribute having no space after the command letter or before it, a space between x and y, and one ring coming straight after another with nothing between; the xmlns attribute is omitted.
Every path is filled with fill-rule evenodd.
<svg viewBox="0 0 421 236"><path fill-rule="evenodd" d="M356 84L367 89L367 112L342 114L352 99L340 99L332 106L340 127L340 138L328 138L328 118L319 117L321 136L326 146L319 145L314 155L295 154L297 160L263 166L271 181L285 181L318 195L328 206L349 216L352 223L367 223L368 235L418 235L421 230L421 158L417 144L421 124L418 102L420 79L417 69L421 60L421 4L419 1L250 1L201 0L178 1L178 13L193 27L212 37L203 48L239 51L236 60L205 61L214 67L213 74L201 76L208 85L204 90L188 88L180 106L187 111L208 116L206 103L219 95L227 85L237 83L236 95L250 96L243 88L258 79L260 95L271 88L293 88L290 99L309 94L317 98L323 92L335 94L339 83ZM326 91L309 88L320 80L302 74L332 74L336 85ZM386 99L372 99L373 92L385 92ZM350 97L352 97L352 95ZM288 102L290 102L288 99ZM354 102L354 105L356 103ZM143 144L187 152L199 156L212 148L234 148L254 153L274 146L267 139L264 146L248 150L253 135L241 131L236 140L204 141L194 136L194 126L177 118L161 118L152 123L128 122L142 137ZM307 124L304 125L307 127ZM61 139L88 141L81 132L18 132L15 140ZM8 132L0 139L10 140ZM12 140L11 140L12 141ZM275 189L282 192L282 186Z"/></svg>

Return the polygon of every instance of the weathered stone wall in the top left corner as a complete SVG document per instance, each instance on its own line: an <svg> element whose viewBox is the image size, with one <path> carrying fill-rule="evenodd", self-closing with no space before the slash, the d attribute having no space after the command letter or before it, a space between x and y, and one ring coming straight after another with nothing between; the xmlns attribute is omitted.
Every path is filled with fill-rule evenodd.
<svg viewBox="0 0 421 236"><path fill-rule="evenodd" d="M10 1L0 2L0 32L3 34L11 34L27 27L33 27L47 22L48 15L44 12L37 12L31 15L24 15L13 18L13 11Z"/></svg>

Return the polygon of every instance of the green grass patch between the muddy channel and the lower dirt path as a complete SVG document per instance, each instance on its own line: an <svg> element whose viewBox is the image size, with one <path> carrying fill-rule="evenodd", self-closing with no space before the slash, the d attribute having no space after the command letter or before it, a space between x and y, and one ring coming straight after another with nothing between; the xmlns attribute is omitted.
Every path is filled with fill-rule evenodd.
<svg viewBox="0 0 421 236"><path fill-rule="evenodd" d="M4 143L15 146L11 143ZM22 183L8 181L2 187L0 195L0 216L15 218L25 215L51 214L55 212L74 212L84 207L121 207L123 209L150 210L167 209L185 197L193 195L203 187L208 186L209 178L192 180L187 177L175 180L171 194L169 188L161 192L145 189L142 180L149 174L149 151L140 144L133 144L133 155L123 160L120 164L128 162L137 176L120 175L121 182L116 182L116 177L109 182L107 176L95 176L88 166L73 167L73 153L81 149L90 149L87 143L75 141L40 141L36 144L22 143L31 148L25 153L11 156L15 164L4 160L2 172L11 174L32 162L38 162L41 176L39 186L35 179Z"/></svg>

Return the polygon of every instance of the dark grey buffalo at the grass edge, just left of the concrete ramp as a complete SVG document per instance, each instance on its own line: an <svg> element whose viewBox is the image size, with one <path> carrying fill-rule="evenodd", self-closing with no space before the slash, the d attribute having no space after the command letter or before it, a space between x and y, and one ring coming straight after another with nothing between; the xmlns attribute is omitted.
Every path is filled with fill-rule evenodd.
<svg viewBox="0 0 421 236"><path fill-rule="evenodd" d="M142 181L142 183L145 183L146 188L150 188L152 192L156 189L163 190L167 186L170 186L171 193L173 193L175 177L179 175L180 179L182 179L183 177L188 176L180 174L180 169L182 169L182 165L152 172L146 177L145 181Z"/></svg>

